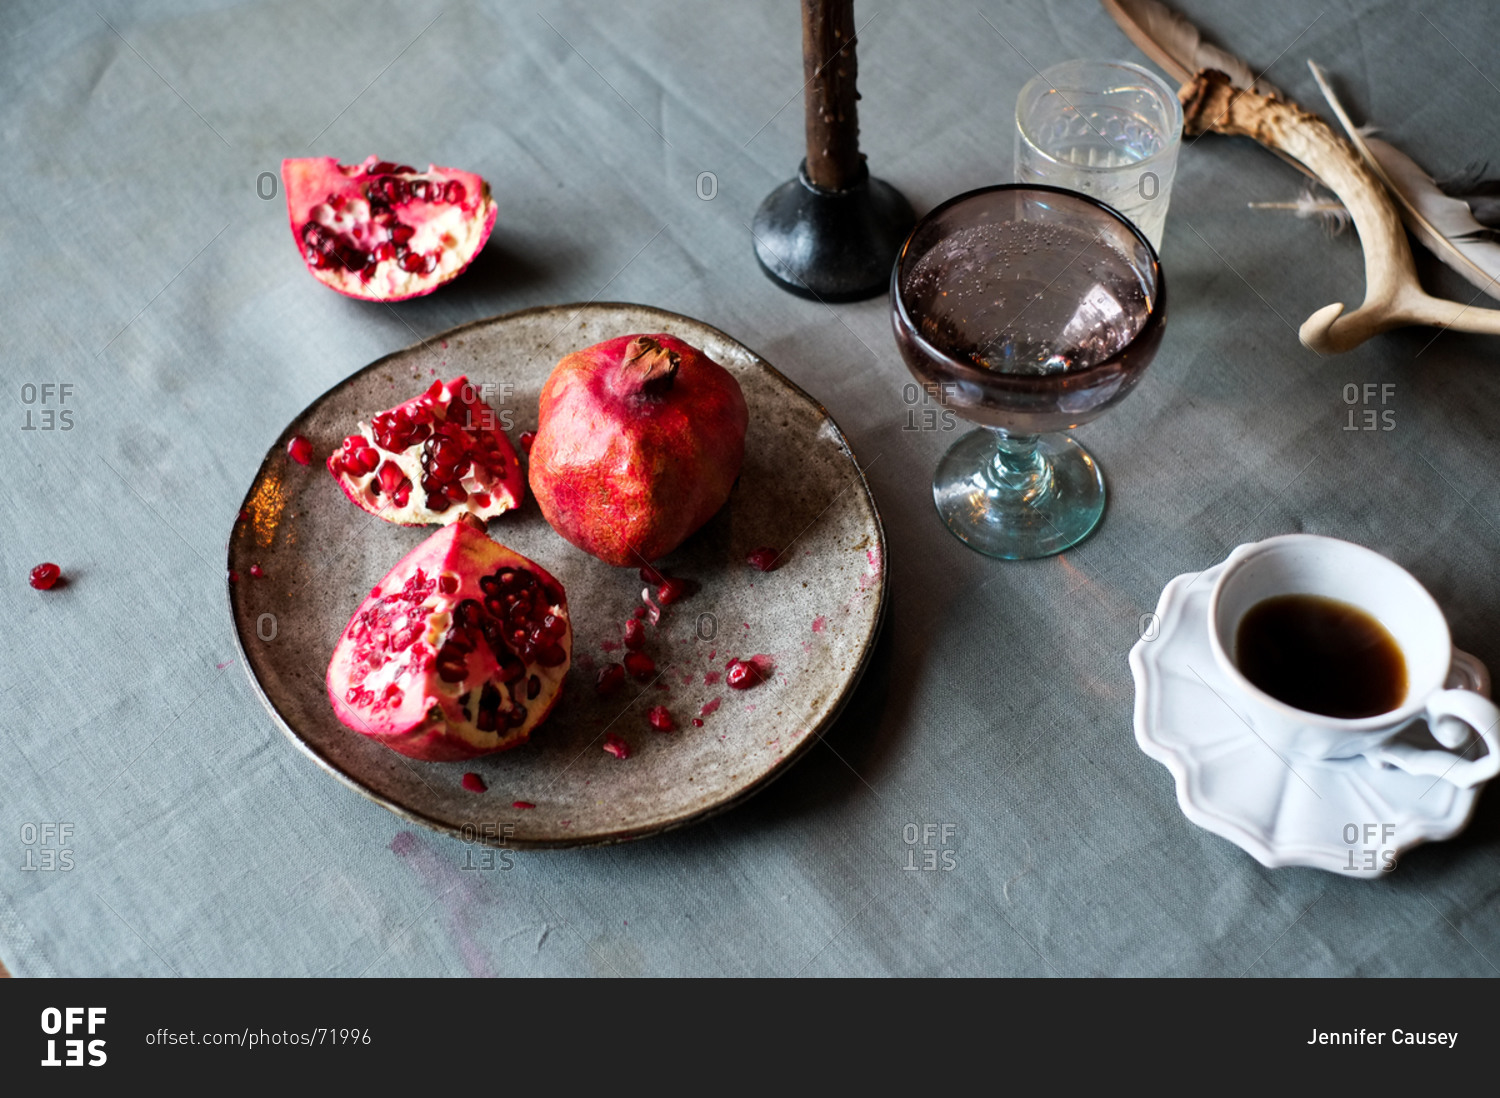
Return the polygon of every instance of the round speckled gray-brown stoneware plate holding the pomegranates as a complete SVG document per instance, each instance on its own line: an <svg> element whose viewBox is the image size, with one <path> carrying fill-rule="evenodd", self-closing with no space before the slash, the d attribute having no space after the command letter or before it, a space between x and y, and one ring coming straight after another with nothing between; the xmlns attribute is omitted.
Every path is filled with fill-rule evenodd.
<svg viewBox="0 0 1500 1098"><path fill-rule="evenodd" d="M324 672L350 615L381 576L436 526L381 522L345 500L324 468L358 420L416 396L434 376L466 375L516 441L537 424L537 398L572 351L630 333L666 332L705 350L744 388L750 430L729 504L660 561L702 588L650 630L666 674L614 698L596 670L618 660L640 604L634 568L614 568L558 537L528 496L489 534L556 576L573 616L573 669L531 742L470 762L406 759L340 724ZM312 465L286 456L294 435ZM519 452L519 446L518 446ZM278 724L320 766L392 812L462 838L513 848L616 843L722 812L802 754L849 699L874 646L886 573L880 518L838 426L807 393L724 333L639 304L526 309L477 321L387 356L318 398L272 446L230 537L230 608L244 666ZM759 546L784 549L760 573ZM261 576L252 576L260 566ZM770 656L774 676L729 690L734 657ZM664 688L663 688L664 687ZM656 732L666 705L678 729ZM693 726L698 717L702 726ZM604 732L630 746L616 759ZM489 786L471 794L466 771ZM516 801L534 808L516 808Z"/></svg>

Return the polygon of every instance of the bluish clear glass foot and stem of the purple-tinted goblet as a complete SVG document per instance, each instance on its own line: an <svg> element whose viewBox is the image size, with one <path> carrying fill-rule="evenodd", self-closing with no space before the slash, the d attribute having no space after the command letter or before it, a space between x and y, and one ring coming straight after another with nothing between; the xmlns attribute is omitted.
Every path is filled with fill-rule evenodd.
<svg viewBox="0 0 1500 1098"><path fill-rule="evenodd" d="M1004 436L980 429L944 454L933 501L954 537L986 556L1052 556L1104 514L1104 474L1066 435Z"/></svg>

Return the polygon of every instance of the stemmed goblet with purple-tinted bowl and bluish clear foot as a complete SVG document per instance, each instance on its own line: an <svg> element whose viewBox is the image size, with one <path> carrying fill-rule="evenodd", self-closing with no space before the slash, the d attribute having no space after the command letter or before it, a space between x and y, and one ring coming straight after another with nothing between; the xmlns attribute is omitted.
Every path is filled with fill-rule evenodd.
<svg viewBox="0 0 1500 1098"><path fill-rule="evenodd" d="M1104 477L1062 432L1125 399L1166 320L1150 242L1086 195L1011 183L922 218L891 273L896 344L928 394L984 424L938 464L948 530L1004 560L1088 537Z"/></svg>

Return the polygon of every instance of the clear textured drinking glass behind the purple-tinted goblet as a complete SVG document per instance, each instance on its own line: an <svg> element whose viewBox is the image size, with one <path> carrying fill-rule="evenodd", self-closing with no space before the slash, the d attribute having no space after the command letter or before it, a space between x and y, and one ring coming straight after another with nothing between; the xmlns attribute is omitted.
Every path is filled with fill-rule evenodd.
<svg viewBox="0 0 1500 1098"><path fill-rule="evenodd" d="M1016 102L1016 180L1113 206L1161 248L1182 146L1182 105L1130 62L1064 62Z"/></svg>

